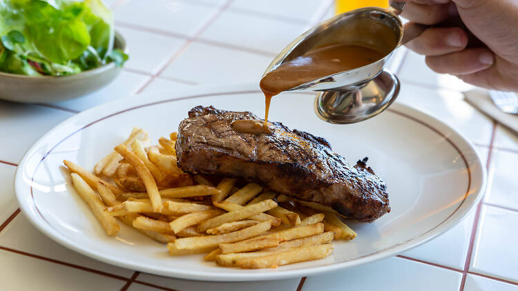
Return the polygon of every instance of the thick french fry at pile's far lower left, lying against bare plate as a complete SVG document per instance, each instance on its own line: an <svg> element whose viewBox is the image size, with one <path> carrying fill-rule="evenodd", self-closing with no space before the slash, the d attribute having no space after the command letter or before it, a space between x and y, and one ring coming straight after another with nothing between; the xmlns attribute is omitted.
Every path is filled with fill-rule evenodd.
<svg viewBox="0 0 518 291"><path fill-rule="evenodd" d="M86 183L79 174L72 173L71 177L77 194L88 204L90 210L92 210L99 223L101 223L104 232L110 236L117 234L120 230L120 226L114 217L104 212L106 205L102 203L101 199L97 197L97 194L93 192L92 188L90 188L88 183Z"/></svg>

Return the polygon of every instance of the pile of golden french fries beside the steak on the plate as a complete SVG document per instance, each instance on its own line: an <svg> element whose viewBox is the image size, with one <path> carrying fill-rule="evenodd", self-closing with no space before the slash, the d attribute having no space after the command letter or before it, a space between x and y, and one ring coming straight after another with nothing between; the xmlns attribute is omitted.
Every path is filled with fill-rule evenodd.
<svg viewBox="0 0 518 291"><path fill-rule="evenodd" d="M256 183L182 172L176 138L173 132L150 145L148 134L134 128L94 173L64 161L106 234L119 232L118 219L166 243L173 256L206 253L206 261L239 268L322 259L333 252L334 239L356 237L336 214Z"/></svg>

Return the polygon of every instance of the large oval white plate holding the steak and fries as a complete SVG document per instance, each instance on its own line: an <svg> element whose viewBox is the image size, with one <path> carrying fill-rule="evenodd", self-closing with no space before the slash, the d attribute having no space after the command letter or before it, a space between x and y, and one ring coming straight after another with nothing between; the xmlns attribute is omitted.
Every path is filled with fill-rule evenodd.
<svg viewBox="0 0 518 291"><path fill-rule="evenodd" d="M50 130L23 157L15 178L17 199L26 217L48 237L100 261L182 279L247 281L302 277L399 254L452 228L481 198L486 185L481 160L461 134L441 121L396 103L374 119L337 126L316 117L313 99L314 94L275 97L271 120L325 137L351 163L369 157L367 164L387 183L392 207L374 223L350 221L358 237L337 241L326 259L238 270L204 262L202 255L170 257L165 245L126 225L117 237L108 237L60 168L68 159L92 170L134 126L157 141L176 131L194 106L261 115L264 97L251 85L127 98L77 114Z"/></svg>

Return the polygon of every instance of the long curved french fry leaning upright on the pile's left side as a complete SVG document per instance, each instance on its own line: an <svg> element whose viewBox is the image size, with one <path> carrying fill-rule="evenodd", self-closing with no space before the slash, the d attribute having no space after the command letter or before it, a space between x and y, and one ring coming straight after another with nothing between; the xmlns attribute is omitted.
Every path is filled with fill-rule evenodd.
<svg viewBox="0 0 518 291"><path fill-rule="evenodd" d="M162 197L160 197L160 193L158 192L157 184L155 183L155 179L151 175L151 172L146 168L144 163L137 157L136 154L128 150L124 145L117 145L115 147L115 151L128 161L135 170L137 170L140 179L144 182L146 186L146 190L148 192L149 198L151 199L151 204L153 205L153 210L155 212L162 211Z"/></svg>

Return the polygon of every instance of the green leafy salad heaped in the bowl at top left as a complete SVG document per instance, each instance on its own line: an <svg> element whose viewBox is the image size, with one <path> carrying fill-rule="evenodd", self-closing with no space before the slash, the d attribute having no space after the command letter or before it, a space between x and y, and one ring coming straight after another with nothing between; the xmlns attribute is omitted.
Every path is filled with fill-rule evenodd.
<svg viewBox="0 0 518 291"><path fill-rule="evenodd" d="M0 0L0 71L64 76L128 56L102 0Z"/></svg>

